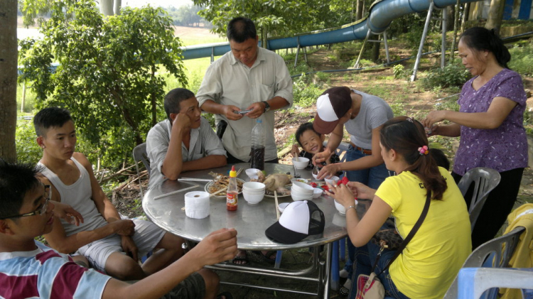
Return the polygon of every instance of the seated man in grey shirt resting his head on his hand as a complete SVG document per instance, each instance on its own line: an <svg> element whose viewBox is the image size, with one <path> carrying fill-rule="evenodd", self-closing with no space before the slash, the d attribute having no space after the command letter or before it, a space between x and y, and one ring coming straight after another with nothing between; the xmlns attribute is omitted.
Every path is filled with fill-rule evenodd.
<svg viewBox="0 0 533 299"><path fill-rule="evenodd" d="M150 129L146 151L150 159L149 187L164 178L176 180L184 171L226 165L222 142L201 114L188 89L172 89L165 96L167 119Z"/></svg>

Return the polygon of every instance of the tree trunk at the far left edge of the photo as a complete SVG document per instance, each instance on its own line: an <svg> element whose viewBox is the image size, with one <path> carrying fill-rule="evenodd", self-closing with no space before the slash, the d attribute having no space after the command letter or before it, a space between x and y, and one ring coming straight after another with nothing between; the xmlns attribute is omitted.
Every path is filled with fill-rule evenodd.
<svg viewBox="0 0 533 299"><path fill-rule="evenodd" d="M16 162L17 0L0 1L0 158Z"/></svg>

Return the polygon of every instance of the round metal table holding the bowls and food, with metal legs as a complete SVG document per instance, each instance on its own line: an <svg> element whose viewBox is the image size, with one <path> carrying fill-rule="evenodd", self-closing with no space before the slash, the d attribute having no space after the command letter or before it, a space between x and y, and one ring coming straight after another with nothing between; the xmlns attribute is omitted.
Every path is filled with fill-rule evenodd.
<svg viewBox="0 0 533 299"><path fill-rule="evenodd" d="M243 171L239 174L238 178L248 181L249 179L244 170L249 168L249 163L236 164L235 169L239 170L239 168L242 168ZM182 173L182 177L212 180L212 176L209 175L210 172L227 175L230 169L231 165L212 168L210 170L196 170ZM296 171L302 178L308 180L312 179L311 170ZM271 173L291 173L291 175L294 175L294 168L292 165L265 163L265 172L266 175ZM251 266L237 266L230 263L220 263L211 266L210 268L316 281L318 283L317 293L306 293L298 290L287 291L306 293L308 295L319 295L323 296L323 298L328 298L328 276L332 250L331 242L346 237L347 235L345 228L346 219L344 215L340 214L335 209L333 198L323 195L313 200L324 213L325 228L323 234L309 236L296 244L281 244L272 241L264 234L264 231L271 224L276 222L276 205L274 198L265 196L257 205L249 205L242 195L239 195L237 211L227 211L225 197L211 197L210 215L208 217L204 219L192 219L186 217L185 211L182 210L182 207L185 206L185 193L190 191L203 191L206 183L207 182L205 181L181 181L178 179L176 181L164 180L161 183L154 185L154 187L146 192L143 198L142 205L146 216L166 231L191 241L201 241L210 232L222 227L235 228L237 229L237 247L244 250L299 249L312 246L318 247L325 244L325 248L327 249L325 261L321 261L319 255L315 254L316 261L313 262L313 266L301 271L289 271L276 268L254 268ZM195 185L198 187L154 200L155 197L160 195ZM279 203L292 201L290 195L286 197L278 197ZM308 277L308 274L313 273L317 268L319 270L318 278ZM279 288L272 289L286 290Z"/></svg>

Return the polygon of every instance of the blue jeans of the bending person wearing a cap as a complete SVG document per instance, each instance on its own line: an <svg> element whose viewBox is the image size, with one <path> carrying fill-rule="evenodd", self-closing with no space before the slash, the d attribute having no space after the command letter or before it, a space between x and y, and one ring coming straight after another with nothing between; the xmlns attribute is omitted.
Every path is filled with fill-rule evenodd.
<svg viewBox="0 0 533 299"><path fill-rule="evenodd" d="M359 158L368 156L362 151L357 151L353 146L350 145L348 152L346 152L346 161L355 161ZM379 185L389 177L389 170L385 167L385 163L377 165L372 168L362 169L362 170L349 170L346 171L346 176L350 182L360 182L372 189L377 189ZM344 268L348 271L348 277L352 277L352 268L353 268L353 256L355 254L355 246L353 246L350 237L348 237L348 257Z"/></svg>

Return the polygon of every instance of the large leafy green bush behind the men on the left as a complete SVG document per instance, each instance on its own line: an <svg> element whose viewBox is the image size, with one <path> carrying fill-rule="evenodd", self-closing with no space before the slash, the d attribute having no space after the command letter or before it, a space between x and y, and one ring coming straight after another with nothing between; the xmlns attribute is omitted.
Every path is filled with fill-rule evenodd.
<svg viewBox="0 0 533 299"><path fill-rule="evenodd" d="M38 109L68 108L104 165L117 165L158 121L164 70L187 84L171 19L151 7L104 19L91 0L50 1L50 13L44 38L20 43L19 80L33 84Z"/></svg>

